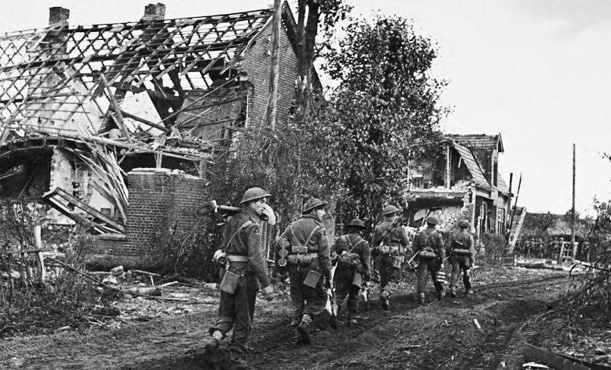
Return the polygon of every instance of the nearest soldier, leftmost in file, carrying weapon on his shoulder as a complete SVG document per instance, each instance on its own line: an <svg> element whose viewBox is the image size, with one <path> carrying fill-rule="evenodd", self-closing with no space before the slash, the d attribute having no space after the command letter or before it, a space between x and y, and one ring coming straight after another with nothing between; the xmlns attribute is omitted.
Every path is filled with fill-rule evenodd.
<svg viewBox="0 0 611 370"><path fill-rule="evenodd" d="M208 353L214 351L233 328L229 351L231 365L238 369L247 368L242 357L248 334L252 331L257 279L266 298L271 298L274 293L261 245L260 217L268 208L268 196L270 194L260 187L246 190L240 201L242 210L227 219L223 234L222 252L226 254L228 265L222 269L219 318L209 330L210 339L205 348Z"/></svg>

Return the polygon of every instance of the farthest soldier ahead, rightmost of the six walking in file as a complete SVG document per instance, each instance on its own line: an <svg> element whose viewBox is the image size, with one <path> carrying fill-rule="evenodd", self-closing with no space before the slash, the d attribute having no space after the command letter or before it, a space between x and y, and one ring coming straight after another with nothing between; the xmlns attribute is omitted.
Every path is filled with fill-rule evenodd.
<svg viewBox="0 0 611 370"><path fill-rule="evenodd" d="M452 265L452 277L450 280L450 295L456 298L456 284L458 278L463 273L463 284L465 284L465 293L473 294L471 290L471 279L469 277L469 269L475 265L475 240L469 233L471 224L463 220L458 222L458 227L461 231L451 233L449 244L450 263Z"/></svg>

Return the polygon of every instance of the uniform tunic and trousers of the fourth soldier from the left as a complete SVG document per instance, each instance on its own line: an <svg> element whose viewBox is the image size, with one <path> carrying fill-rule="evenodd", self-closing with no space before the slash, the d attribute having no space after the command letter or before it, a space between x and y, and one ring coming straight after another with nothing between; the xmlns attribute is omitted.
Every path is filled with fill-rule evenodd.
<svg viewBox="0 0 611 370"><path fill-rule="evenodd" d="M380 290L393 293L401 279L401 263L405 258L408 238L401 226L392 226L392 222L383 221L373 230L373 247L378 248L376 265L380 271Z"/></svg>

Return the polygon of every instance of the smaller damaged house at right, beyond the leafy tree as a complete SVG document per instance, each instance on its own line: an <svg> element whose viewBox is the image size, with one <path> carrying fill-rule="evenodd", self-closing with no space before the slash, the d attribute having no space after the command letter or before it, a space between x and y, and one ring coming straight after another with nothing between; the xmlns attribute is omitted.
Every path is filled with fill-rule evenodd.
<svg viewBox="0 0 611 370"><path fill-rule="evenodd" d="M447 139L443 155L411 166L406 193L411 226L435 215L442 228L451 229L458 219L466 218L477 236L504 236L512 194L499 171L499 155L504 152L501 134L449 135Z"/></svg>

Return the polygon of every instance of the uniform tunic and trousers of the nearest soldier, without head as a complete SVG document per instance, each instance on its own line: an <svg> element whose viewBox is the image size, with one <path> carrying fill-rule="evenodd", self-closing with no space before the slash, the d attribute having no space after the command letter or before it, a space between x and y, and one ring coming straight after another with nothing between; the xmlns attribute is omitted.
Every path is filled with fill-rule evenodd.
<svg viewBox="0 0 611 370"><path fill-rule="evenodd" d="M257 279L264 287L270 285L260 222L254 210L246 207L227 219L223 234L227 270L240 275L240 281L233 294L221 291L219 318L210 328L210 334L219 330L224 335L233 327L230 349L238 353L245 350L248 334L252 331ZM222 281L225 270L221 273Z"/></svg>

